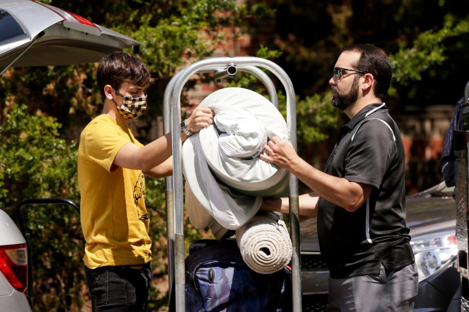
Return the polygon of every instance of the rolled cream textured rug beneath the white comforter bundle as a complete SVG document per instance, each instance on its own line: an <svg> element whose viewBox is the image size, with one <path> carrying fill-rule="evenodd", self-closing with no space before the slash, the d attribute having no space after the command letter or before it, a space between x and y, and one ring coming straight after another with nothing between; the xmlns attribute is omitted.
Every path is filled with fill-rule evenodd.
<svg viewBox="0 0 469 312"><path fill-rule="evenodd" d="M275 273L292 258L292 241L282 220L255 216L236 230L236 241L244 262L257 273Z"/></svg>

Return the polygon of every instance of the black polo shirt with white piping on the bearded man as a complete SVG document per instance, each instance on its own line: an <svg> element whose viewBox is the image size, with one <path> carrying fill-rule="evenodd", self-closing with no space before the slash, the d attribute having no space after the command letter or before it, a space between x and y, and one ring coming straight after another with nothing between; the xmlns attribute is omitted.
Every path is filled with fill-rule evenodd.
<svg viewBox="0 0 469 312"><path fill-rule="evenodd" d="M325 173L373 186L355 212L322 197L320 251L332 278L379 274L414 262L405 225L405 158L401 133L384 103L364 107L341 127Z"/></svg>

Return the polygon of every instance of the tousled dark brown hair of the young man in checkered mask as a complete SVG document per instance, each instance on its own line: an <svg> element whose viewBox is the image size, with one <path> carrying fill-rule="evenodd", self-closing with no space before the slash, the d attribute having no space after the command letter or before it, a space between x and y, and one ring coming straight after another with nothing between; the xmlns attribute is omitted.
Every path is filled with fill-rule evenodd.
<svg viewBox="0 0 469 312"><path fill-rule="evenodd" d="M119 89L122 82L129 82L146 89L154 81L145 63L127 52L112 52L102 58L96 80L103 96L107 84Z"/></svg>

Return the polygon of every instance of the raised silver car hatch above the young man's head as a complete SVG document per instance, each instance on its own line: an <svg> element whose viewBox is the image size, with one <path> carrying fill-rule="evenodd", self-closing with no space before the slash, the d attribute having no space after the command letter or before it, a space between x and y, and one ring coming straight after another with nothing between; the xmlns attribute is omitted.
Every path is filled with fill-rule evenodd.
<svg viewBox="0 0 469 312"><path fill-rule="evenodd" d="M0 1L0 74L11 66L70 65L99 61L140 42L52 5ZM136 51L135 51L136 50Z"/></svg>

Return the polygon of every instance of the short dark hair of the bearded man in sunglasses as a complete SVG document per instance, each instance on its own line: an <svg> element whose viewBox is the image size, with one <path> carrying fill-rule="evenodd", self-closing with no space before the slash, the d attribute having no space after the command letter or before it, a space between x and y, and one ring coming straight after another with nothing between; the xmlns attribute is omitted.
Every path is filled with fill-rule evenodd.
<svg viewBox="0 0 469 312"><path fill-rule="evenodd" d="M391 85L392 66L383 49L373 44L354 44L343 48L344 51L357 51L361 53L355 69L370 73L375 79L374 93L377 98L383 100Z"/></svg>

